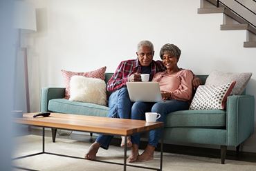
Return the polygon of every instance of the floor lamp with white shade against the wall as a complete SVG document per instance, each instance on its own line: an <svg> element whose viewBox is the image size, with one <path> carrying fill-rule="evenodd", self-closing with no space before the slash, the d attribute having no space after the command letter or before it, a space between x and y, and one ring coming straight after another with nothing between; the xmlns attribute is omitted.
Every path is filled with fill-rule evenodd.
<svg viewBox="0 0 256 171"><path fill-rule="evenodd" d="M30 112L30 98L28 86L28 56L26 36L29 32L37 31L35 7L26 1L15 2L15 28L19 31L18 50L24 53L24 80L26 89L26 112Z"/></svg>

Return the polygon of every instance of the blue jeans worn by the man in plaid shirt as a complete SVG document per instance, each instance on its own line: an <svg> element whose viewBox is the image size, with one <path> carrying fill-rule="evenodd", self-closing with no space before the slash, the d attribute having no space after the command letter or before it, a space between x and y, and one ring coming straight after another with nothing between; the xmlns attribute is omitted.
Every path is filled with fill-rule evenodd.
<svg viewBox="0 0 256 171"><path fill-rule="evenodd" d="M121 88L113 92L109 97L109 114L108 117L129 119L131 112L131 101L127 88ZM109 143L113 138L112 135L100 134L96 142L100 143L100 147L109 148Z"/></svg>

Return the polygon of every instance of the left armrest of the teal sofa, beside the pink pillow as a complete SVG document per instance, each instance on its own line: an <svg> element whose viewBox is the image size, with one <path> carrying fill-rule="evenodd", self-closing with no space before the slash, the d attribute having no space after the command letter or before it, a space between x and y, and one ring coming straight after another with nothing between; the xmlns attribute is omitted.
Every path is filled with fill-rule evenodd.
<svg viewBox="0 0 256 171"><path fill-rule="evenodd" d="M42 88L41 90L41 112L48 111L48 102L51 99L62 99L65 97L65 88Z"/></svg>

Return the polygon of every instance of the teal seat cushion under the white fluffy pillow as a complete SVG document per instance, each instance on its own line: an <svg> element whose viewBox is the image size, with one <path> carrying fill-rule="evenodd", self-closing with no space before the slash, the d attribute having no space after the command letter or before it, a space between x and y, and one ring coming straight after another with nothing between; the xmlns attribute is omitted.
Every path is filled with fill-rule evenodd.
<svg viewBox="0 0 256 171"><path fill-rule="evenodd" d="M84 114L98 117L107 117L109 112L109 108L104 105L68 101L67 99L51 99L48 103L48 110L51 112Z"/></svg>

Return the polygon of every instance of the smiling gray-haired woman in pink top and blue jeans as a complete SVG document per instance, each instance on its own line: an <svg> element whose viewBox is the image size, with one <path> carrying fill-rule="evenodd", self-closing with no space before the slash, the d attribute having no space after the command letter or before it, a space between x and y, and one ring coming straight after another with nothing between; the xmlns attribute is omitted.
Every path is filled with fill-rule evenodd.
<svg viewBox="0 0 256 171"><path fill-rule="evenodd" d="M145 112L157 112L161 117L157 121L165 121L165 117L170 112L177 110L188 110L189 102L192 99L192 79L190 70L183 70L177 66L181 50L174 44L165 44L160 51L160 57L166 70L155 74L152 81L158 81L161 89L163 101L148 103L136 101L131 108L131 119L145 119ZM131 155L128 162L149 161L154 157L154 150L161 137L162 130L152 130L149 132L149 143L145 151L139 155L138 145L140 134L131 136Z"/></svg>

